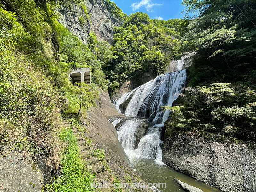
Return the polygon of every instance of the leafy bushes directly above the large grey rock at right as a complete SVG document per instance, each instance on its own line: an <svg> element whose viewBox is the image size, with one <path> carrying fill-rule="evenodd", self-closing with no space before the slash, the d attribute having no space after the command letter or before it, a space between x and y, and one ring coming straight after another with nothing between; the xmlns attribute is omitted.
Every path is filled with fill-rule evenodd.
<svg viewBox="0 0 256 192"><path fill-rule="evenodd" d="M211 86L187 87L183 106L171 110L165 124L168 134L177 131L197 131L211 139L256 140L256 92L250 87L214 83Z"/></svg>

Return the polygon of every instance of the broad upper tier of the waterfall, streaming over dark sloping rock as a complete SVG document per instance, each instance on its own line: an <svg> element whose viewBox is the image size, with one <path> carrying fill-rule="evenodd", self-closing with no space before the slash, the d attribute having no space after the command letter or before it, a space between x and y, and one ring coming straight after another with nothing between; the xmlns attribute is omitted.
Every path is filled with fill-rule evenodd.
<svg viewBox="0 0 256 192"><path fill-rule="evenodd" d="M157 76L113 101L125 115L150 117L155 124L164 124L169 111L162 106L172 105L186 83L186 70L174 71Z"/></svg>

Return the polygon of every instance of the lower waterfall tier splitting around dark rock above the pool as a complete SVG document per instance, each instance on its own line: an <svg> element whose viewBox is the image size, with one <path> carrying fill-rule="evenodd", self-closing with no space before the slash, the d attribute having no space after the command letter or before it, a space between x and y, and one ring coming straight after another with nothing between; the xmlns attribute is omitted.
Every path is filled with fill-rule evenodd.
<svg viewBox="0 0 256 192"><path fill-rule="evenodd" d="M162 127L148 122L147 118L139 117L126 116L109 121L115 126L118 140L130 160L133 157L142 156L162 162Z"/></svg>

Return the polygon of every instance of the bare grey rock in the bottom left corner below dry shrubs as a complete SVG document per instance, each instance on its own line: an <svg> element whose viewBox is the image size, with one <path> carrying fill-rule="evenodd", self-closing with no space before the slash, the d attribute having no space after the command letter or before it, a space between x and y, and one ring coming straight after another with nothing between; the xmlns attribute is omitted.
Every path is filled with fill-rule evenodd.
<svg viewBox="0 0 256 192"><path fill-rule="evenodd" d="M0 157L0 191L40 192L47 174L51 177L43 166L26 153L12 151Z"/></svg>

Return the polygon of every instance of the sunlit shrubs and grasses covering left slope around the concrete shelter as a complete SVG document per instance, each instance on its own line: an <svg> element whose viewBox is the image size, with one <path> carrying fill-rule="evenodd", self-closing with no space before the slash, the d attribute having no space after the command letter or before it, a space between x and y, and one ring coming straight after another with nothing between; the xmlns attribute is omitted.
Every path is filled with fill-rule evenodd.
<svg viewBox="0 0 256 192"><path fill-rule="evenodd" d="M56 6L54 1L0 3L0 151L43 155L53 171L63 152L58 134L65 97L81 100L85 113L95 105L96 90L108 83L96 56L57 22ZM71 67L91 67L91 86L75 90L67 76ZM65 110L77 113L73 103Z"/></svg>

